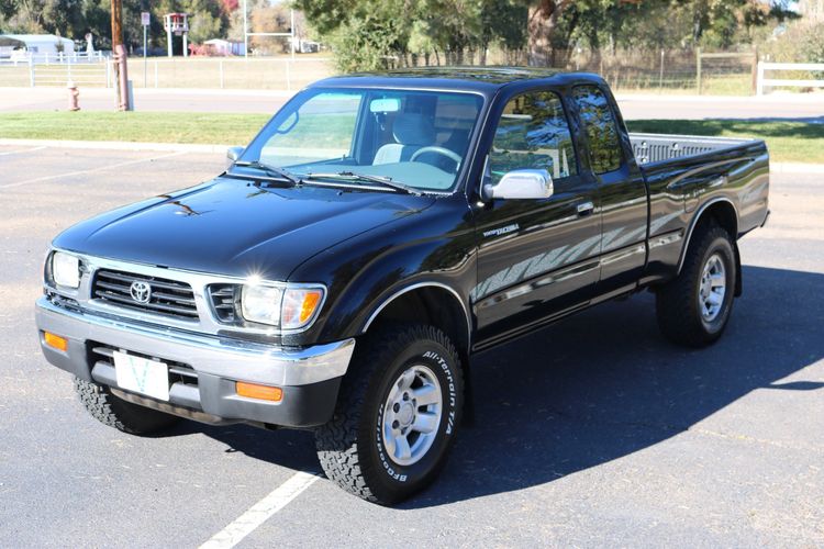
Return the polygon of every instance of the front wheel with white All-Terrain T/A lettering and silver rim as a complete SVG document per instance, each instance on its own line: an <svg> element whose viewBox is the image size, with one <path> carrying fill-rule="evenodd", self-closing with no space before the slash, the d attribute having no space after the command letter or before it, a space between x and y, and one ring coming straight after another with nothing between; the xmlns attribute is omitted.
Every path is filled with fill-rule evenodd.
<svg viewBox="0 0 824 549"><path fill-rule="evenodd" d="M405 500L445 464L463 400L460 359L443 332L400 325L368 335L334 417L315 430L326 477L370 502Z"/></svg>

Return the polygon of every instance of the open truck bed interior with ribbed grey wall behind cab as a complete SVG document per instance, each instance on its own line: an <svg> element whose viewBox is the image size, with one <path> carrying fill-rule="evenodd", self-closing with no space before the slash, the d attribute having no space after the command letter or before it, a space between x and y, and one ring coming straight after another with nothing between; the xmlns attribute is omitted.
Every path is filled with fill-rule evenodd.
<svg viewBox="0 0 824 549"><path fill-rule="evenodd" d="M654 165L673 158L684 158L750 144L758 139L708 137L702 135L630 133L635 159L641 165Z"/></svg>

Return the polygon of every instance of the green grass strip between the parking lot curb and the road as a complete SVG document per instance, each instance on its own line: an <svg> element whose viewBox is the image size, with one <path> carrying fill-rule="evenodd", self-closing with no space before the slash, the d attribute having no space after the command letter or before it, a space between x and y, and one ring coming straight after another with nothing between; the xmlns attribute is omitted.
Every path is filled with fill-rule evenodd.
<svg viewBox="0 0 824 549"><path fill-rule="evenodd" d="M0 113L0 137L245 145L267 120L266 114L226 113ZM325 130L336 125L316 126L314 144L335 138ZM824 124L645 120L627 125L631 132L758 137L767 141L773 161L824 164Z"/></svg>

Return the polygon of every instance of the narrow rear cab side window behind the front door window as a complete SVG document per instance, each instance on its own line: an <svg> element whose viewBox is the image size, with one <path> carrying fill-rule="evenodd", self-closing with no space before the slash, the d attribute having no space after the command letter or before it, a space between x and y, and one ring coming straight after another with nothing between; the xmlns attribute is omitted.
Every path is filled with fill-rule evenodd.
<svg viewBox="0 0 824 549"><path fill-rule="evenodd" d="M621 138L606 96L595 86L576 86L572 100L587 132L592 171L600 176L621 168Z"/></svg>

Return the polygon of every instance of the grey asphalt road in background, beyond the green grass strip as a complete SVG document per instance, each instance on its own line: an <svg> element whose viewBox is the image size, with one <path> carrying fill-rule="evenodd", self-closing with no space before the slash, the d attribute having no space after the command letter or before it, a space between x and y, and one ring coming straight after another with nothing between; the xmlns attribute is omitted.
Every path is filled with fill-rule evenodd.
<svg viewBox="0 0 824 549"><path fill-rule="evenodd" d="M274 114L291 97L279 90L164 89L134 90L137 111L253 112ZM645 119L755 119L800 120L824 123L824 92L776 92L756 97L706 97L688 94L620 94L626 120ZM65 88L2 88L0 112L66 110ZM80 90L80 107L87 111L114 110L114 90ZM1 136L0 136L1 137Z"/></svg>

